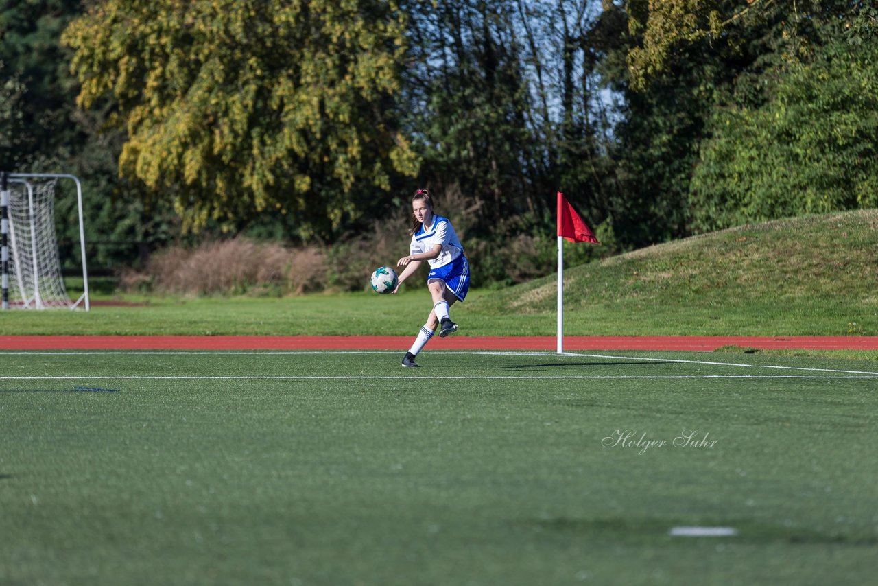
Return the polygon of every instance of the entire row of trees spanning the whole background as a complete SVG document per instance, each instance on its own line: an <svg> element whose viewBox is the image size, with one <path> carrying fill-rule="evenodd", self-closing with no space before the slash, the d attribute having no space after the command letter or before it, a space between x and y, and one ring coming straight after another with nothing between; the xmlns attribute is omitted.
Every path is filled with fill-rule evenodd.
<svg viewBox="0 0 878 586"><path fill-rule="evenodd" d="M551 266L558 190L623 249L878 204L875 18L861 0L0 0L0 159L83 177L97 240L182 224L341 257L426 184L479 278L528 279Z"/></svg>

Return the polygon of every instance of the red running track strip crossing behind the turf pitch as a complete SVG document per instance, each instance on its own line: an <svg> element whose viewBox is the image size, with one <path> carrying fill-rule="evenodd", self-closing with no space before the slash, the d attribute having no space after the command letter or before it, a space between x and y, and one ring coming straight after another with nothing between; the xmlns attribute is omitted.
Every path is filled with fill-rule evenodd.
<svg viewBox="0 0 878 586"><path fill-rule="evenodd" d="M397 350L413 336L0 336L0 350ZM878 350L878 336L565 336L565 351ZM428 350L555 351L555 336L451 336Z"/></svg>

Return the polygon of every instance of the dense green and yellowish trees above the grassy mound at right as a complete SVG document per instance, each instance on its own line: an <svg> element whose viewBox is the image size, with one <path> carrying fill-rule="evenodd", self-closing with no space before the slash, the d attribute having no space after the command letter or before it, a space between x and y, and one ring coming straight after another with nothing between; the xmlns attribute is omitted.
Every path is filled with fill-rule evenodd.
<svg viewBox="0 0 878 586"><path fill-rule="evenodd" d="M870 87L863 76L871 74L838 55L830 67L824 56L846 46L844 26L866 6L605 3L629 24L627 37L615 39L627 67L607 77L624 96L608 176L622 203L615 209L625 210L624 219L615 218L623 239L645 244L750 219L865 205L874 105L872 94L855 96L853 88ZM865 48L851 55L868 61ZM842 71L858 67L862 75L842 79ZM838 140L839 132L850 143ZM822 163L811 161L817 153ZM859 200L837 191L844 183L848 191L863 185ZM800 189L806 184L808 193Z"/></svg>

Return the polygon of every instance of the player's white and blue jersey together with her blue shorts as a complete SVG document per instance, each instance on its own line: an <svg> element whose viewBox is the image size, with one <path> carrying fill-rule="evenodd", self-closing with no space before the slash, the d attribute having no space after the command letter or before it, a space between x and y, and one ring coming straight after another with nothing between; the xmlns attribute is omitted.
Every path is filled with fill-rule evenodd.
<svg viewBox="0 0 878 586"><path fill-rule="evenodd" d="M427 228L421 224L421 228L412 235L409 250L413 255L421 254L432 251L436 244L441 244L442 250L438 257L427 261L430 265L427 281L443 280L450 292L463 301L470 289L470 264L451 222L437 215L433 216L432 225Z"/></svg>

